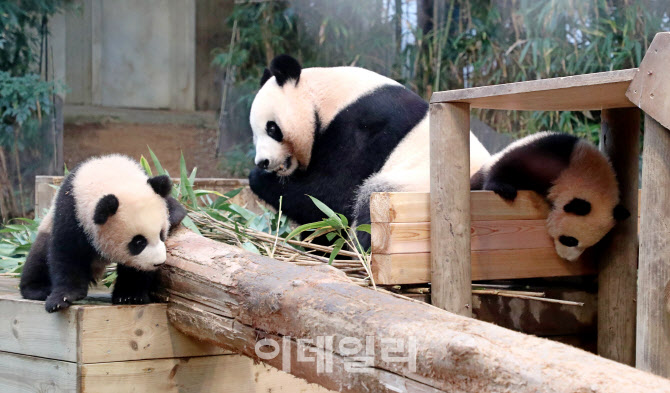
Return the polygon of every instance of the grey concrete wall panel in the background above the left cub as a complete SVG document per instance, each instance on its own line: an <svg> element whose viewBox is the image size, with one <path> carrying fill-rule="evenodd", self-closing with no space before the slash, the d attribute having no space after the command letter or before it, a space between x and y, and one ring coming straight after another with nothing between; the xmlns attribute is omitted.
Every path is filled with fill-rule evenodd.
<svg viewBox="0 0 670 393"><path fill-rule="evenodd" d="M195 0L76 3L51 21L68 104L195 109Z"/></svg>

